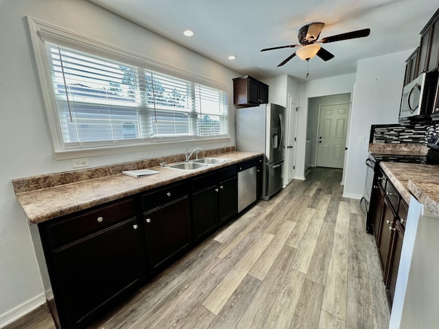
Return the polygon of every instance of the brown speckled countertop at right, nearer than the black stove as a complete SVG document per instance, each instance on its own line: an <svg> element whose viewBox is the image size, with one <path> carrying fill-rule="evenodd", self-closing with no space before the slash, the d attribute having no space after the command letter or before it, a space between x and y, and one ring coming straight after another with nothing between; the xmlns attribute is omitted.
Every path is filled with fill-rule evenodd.
<svg viewBox="0 0 439 329"><path fill-rule="evenodd" d="M439 165L380 162L384 173L409 204L410 193L439 216Z"/></svg>

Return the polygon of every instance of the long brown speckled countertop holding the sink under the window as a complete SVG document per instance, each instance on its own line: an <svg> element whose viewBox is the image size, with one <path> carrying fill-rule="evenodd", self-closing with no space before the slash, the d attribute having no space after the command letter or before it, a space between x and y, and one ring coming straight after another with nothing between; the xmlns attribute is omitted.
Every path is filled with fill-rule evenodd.
<svg viewBox="0 0 439 329"><path fill-rule="evenodd" d="M215 154L215 158L230 161L194 171L151 167L148 169L160 173L143 178L132 178L120 173L22 193L17 193L16 190L16 199L25 210L30 223L41 223L261 155L263 154L243 151Z"/></svg>

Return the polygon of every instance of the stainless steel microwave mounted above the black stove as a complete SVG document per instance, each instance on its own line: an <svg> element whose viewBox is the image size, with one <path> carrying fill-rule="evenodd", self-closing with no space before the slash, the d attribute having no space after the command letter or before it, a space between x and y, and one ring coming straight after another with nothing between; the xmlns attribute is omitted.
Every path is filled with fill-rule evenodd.
<svg viewBox="0 0 439 329"><path fill-rule="evenodd" d="M399 121L427 119L433 112L434 94L438 71L421 73L415 80L404 86L399 110Z"/></svg>

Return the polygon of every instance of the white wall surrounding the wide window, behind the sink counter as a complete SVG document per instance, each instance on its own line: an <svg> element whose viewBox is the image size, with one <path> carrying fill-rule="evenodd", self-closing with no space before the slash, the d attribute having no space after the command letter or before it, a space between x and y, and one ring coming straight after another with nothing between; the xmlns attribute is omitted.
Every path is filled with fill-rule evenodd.
<svg viewBox="0 0 439 329"><path fill-rule="evenodd" d="M11 180L72 170L70 160L54 159L27 15L228 84L232 138L229 143L206 146L235 145L232 79L239 73L85 0L0 0L0 326L44 300L37 263L37 256L41 257L38 230L36 226L29 228L25 213L14 197ZM184 149L151 150L148 157L183 153ZM91 167L132 160L137 160L137 154L89 158Z"/></svg>

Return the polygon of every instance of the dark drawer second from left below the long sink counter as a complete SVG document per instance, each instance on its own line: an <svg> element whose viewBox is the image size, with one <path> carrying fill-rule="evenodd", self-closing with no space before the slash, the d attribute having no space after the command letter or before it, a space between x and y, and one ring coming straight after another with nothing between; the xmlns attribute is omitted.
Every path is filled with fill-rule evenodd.
<svg viewBox="0 0 439 329"><path fill-rule="evenodd" d="M151 193L142 195L143 211L151 210L168 202L172 202L188 194L187 182L167 185Z"/></svg>

